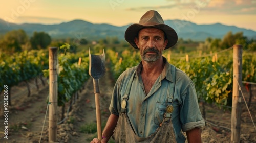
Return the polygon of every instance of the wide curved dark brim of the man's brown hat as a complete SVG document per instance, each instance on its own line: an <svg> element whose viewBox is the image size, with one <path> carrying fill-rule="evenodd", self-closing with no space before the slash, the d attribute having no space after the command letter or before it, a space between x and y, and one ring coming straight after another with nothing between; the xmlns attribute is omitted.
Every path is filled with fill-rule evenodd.
<svg viewBox="0 0 256 143"><path fill-rule="evenodd" d="M165 47L165 49L168 49L172 46L174 46L178 41L178 35L175 32L175 30L168 25L165 24L159 24L159 25L153 25L153 26L143 26L140 24L133 24L127 28L124 34L124 38L127 42L129 42L135 49L139 49L134 41L135 37L138 36L138 32L143 28L157 28L163 30L163 32L166 35L166 38L168 40L168 43Z"/></svg>

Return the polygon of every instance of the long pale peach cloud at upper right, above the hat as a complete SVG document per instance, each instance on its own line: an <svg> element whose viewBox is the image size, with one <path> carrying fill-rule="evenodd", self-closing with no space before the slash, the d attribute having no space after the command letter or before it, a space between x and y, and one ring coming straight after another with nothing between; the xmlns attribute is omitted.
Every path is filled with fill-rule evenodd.
<svg viewBox="0 0 256 143"><path fill-rule="evenodd" d="M165 5L127 8L130 11L145 11L148 9L173 9L188 11L199 5L204 14L256 14L256 0L166 0Z"/></svg>

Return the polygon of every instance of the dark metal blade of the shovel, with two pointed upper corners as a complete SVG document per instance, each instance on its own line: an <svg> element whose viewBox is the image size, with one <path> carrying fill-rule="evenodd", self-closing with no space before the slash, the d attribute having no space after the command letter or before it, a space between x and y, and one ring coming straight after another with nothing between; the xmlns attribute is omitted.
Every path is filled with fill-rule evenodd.
<svg viewBox="0 0 256 143"><path fill-rule="evenodd" d="M106 73L105 67L105 52L101 55L91 55L89 48L89 75L94 79L99 79Z"/></svg>

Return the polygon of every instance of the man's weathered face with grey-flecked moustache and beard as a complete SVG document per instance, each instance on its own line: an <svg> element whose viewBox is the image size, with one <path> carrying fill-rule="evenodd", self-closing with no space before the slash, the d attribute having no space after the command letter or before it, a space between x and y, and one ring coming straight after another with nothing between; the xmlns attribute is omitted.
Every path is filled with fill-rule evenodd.
<svg viewBox="0 0 256 143"><path fill-rule="evenodd" d="M164 40L164 32L157 28L141 29L134 41L140 49L142 60L146 62L157 61L168 42Z"/></svg>

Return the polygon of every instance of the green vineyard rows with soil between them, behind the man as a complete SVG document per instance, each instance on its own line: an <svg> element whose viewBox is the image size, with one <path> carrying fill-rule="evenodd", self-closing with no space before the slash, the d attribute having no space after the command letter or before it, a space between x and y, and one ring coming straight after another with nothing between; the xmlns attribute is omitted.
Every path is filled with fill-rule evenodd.
<svg viewBox="0 0 256 143"><path fill-rule="evenodd" d="M92 50L93 51L93 50ZM92 78L88 74L88 50L69 52L69 44L57 51L57 105L59 142L90 142L97 136L94 124L95 102ZM95 51L93 51L95 52ZM127 68L138 65L139 51L123 50L116 52L107 47L106 75L100 79L101 114L103 126L109 111L112 89L118 76ZM102 50L94 54L101 54ZM255 142L253 127L255 115L256 52L243 51L242 87L246 103L242 100L241 140ZM204 142L226 142L230 140L230 122L233 89L233 47L226 50L186 54L164 51L167 61L193 80L200 108L207 126L203 128ZM49 51L24 51L13 55L0 55L0 91L3 94L8 86L8 141L0 131L0 142L48 142L49 104ZM254 96L254 97L253 97ZM4 98L0 99L4 103ZM2 104L4 105L4 104ZM33 109L33 110L32 110ZM4 106L1 107L1 129L4 128ZM30 111L31 110L31 111ZM30 113L34 112L34 113ZM22 116L21 114L24 114ZM31 118L28 118L31 117ZM17 118L20 117L20 120ZM83 130L83 128L85 128ZM89 129L86 130L86 129ZM18 141L20 139L20 141Z"/></svg>

